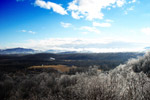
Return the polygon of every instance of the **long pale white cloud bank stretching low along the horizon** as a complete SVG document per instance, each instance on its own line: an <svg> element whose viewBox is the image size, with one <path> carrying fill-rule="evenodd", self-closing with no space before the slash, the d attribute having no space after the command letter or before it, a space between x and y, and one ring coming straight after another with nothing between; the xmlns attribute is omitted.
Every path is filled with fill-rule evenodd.
<svg viewBox="0 0 150 100"><path fill-rule="evenodd" d="M27 43L15 43L13 47L33 48L36 50L60 50L78 52L138 52L149 43L127 41L113 38L49 38L29 40Z"/></svg>

